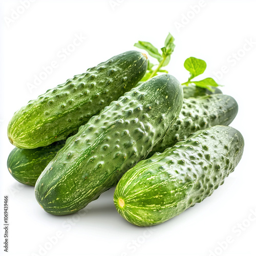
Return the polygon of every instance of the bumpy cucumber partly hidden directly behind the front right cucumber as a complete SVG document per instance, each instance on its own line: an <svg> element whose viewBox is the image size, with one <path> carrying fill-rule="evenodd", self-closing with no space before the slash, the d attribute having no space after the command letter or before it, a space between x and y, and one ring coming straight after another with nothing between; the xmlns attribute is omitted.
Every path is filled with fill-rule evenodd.
<svg viewBox="0 0 256 256"><path fill-rule="evenodd" d="M163 139L154 146L148 158L156 152L186 139L191 133L215 125L229 125L238 113L237 101L228 95L212 94L184 99L180 115Z"/></svg>

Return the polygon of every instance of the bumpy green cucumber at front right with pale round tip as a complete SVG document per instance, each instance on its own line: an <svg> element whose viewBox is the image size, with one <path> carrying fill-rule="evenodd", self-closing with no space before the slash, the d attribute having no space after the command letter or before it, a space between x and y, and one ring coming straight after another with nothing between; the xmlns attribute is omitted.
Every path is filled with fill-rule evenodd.
<svg viewBox="0 0 256 256"><path fill-rule="evenodd" d="M120 179L114 203L137 226L161 224L209 197L238 165L240 132L217 125L139 162Z"/></svg>

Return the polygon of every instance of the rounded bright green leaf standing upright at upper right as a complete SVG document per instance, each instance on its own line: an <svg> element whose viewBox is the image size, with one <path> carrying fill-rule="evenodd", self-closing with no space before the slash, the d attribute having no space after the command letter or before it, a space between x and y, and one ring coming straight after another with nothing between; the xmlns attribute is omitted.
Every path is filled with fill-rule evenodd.
<svg viewBox="0 0 256 256"><path fill-rule="evenodd" d="M206 62L202 59L190 57L185 60L184 67L190 73L190 80L204 73L206 69Z"/></svg>

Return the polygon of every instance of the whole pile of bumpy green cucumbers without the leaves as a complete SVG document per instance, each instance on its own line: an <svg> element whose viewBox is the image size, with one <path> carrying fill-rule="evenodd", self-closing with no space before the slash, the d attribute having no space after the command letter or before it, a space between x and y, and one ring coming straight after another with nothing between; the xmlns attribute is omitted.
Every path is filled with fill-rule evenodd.
<svg viewBox="0 0 256 256"><path fill-rule="evenodd" d="M69 215L116 186L119 214L160 224L210 196L238 165L231 96L163 74L140 82L144 53L129 51L76 75L14 113L10 174L40 206Z"/></svg>

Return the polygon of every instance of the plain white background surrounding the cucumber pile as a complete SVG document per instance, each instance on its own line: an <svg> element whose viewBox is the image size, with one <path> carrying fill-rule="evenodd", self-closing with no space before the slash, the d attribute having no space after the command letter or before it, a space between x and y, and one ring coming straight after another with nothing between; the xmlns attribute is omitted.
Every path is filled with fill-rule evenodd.
<svg viewBox="0 0 256 256"><path fill-rule="evenodd" d="M9 195L8 255L255 255L256 220L248 220L250 212L256 211L255 1L206 1L198 10L197 0L38 0L14 20L20 3L2 0L0 6L0 223L3 226L3 196ZM167 69L181 82L188 77L183 68L187 57L207 62L202 78L216 78L216 72L227 66L228 71L222 76L218 73L216 80L225 85L223 93L239 103L238 116L231 124L245 139L238 167L204 202L150 229L133 226L118 215L113 188L86 211L63 217L47 214L36 202L34 188L20 185L6 167L13 148L6 131L13 113L66 79L116 54L135 50L138 40L163 47L168 32L176 38L176 49ZM61 55L76 34L86 39L69 56ZM254 43L245 52L246 40ZM234 60L237 53L240 59ZM30 92L27 84L54 60L58 67ZM60 238L50 243L56 234ZM223 241L228 237L232 242L226 245ZM46 251L40 250L45 246Z"/></svg>

